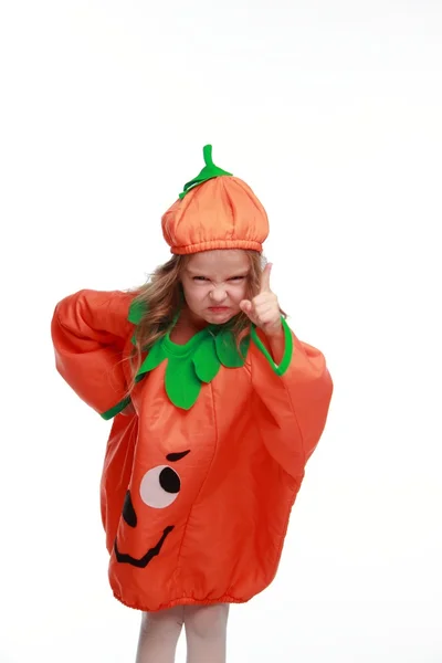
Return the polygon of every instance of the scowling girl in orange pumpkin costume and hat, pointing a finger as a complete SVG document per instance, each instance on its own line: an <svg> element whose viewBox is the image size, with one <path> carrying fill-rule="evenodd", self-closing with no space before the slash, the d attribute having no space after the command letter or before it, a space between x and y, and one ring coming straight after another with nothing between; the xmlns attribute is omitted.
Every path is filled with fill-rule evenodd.
<svg viewBox="0 0 442 663"><path fill-rule="evenodd" d="M81 291L52 322L57 370L114 419L102 516L114 596L149 615L139 663L173 661L182 620L191 663L224 660L227 606L276 573L333 390L320 351L281 315L269 265L251 294L251 255L269 233L264 208L213 165L210 146L204 159L162 217L171 253L188 257L172 259L185 265L181 301L159 319L155 341L143 344L156 314L143 291ZM249 326L238 337L240 318ZM198 623L211 619L208 653Z"/></svg>

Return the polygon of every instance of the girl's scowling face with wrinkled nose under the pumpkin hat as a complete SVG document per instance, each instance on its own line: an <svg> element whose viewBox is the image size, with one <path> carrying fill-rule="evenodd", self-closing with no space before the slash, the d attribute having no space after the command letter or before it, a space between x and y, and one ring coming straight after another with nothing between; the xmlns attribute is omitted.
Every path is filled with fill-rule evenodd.
<svg viewBox="0 0 442 663"><path fill-rule="evenodd" d="M241 250L196 253L187 263L181 283L190 312L199 320L222 325L240 313L248 298L249 256Z"/></svg>

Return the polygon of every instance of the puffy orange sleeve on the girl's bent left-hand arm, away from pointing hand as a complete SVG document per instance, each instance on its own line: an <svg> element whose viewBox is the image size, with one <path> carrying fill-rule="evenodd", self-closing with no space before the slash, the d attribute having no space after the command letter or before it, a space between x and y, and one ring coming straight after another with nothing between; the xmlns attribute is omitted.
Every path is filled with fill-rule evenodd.
<svg viewBox="0 0 442 663"><path fill-rule="evenodd" d="M130 401L123 351L134 294L83 290L62 299L52 318L55 365L62 378L104 419Z"/></svg>

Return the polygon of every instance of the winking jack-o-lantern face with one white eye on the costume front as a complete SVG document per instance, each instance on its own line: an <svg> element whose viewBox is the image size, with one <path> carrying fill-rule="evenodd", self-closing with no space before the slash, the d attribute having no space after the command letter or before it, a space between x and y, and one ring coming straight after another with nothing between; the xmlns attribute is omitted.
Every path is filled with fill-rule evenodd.
<svg viewBox="0 0 442 663"><path fill-rule="evenodd" d="M185 457L188 453L190 453L190 450L179 453L169 453L166 456L166 460L169 462L177 462ZM143 476L139 485L139 495L144 504L150 508L167 508L177 499L180 490L181 480L178 472L176 472L169 465L157 465L156 467L148 470L148 472L146 472L146 474ZM127 491L126 493L122 515L126 525L133 528L137 526L138 517L133 505L130 491ZM146 568L149 561L160 554L162 545L172 529L173 525L166 527L157 544L152 548L149 548L147 552L139 559L126 552L122 552L118 549L116 537L114 550L117 561L130 564L131 566L141 569Z"/></svg>

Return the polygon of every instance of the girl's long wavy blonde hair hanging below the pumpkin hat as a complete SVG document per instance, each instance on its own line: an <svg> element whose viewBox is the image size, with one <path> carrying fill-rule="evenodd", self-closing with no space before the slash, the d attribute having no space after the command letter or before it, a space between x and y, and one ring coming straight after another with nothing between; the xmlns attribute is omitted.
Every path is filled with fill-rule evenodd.
<svg viewBox="0 0 442 663"><path fill-rule="evenodd" d="M266 259L257 251L245 251L245 254L250 264L246 296L252 298L260 292ZM135 291L137 294L134 302L141 304L146 314L135 329L135 348L131 356L134 375L141 364L143 352L165 336L173 325L175 317L185 302L181 278L190 257L191 255L173 255L155 270L145 285ZM241 339L250 329L250 319L241 312L230 324L240 347Z"/></svg>

